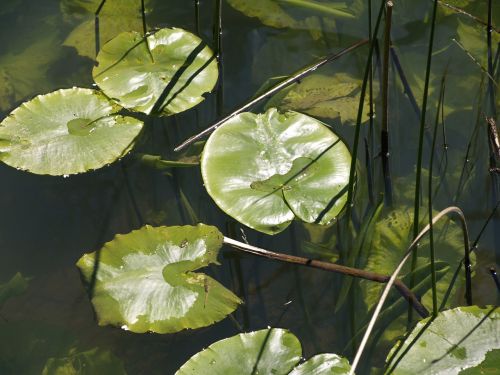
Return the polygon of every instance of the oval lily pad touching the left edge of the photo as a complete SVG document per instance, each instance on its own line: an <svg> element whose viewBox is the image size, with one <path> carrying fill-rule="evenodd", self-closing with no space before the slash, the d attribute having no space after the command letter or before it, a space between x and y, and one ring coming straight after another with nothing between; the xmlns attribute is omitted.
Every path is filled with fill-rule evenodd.
<svg viewBox="0 0 500 375"><path fill-rule="evenodd" d="M95 90L72 88L23 103L0 123L0 160L37 174L70 175L125 155L143 123Z"/></svg>

